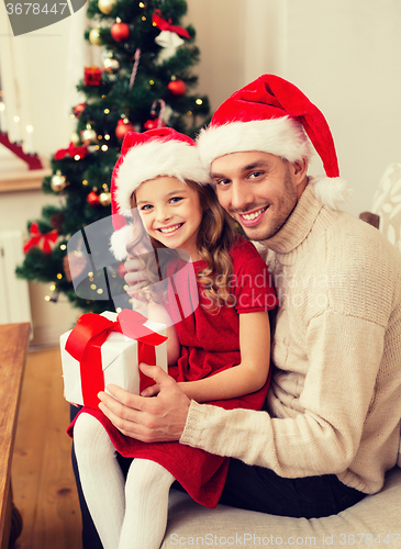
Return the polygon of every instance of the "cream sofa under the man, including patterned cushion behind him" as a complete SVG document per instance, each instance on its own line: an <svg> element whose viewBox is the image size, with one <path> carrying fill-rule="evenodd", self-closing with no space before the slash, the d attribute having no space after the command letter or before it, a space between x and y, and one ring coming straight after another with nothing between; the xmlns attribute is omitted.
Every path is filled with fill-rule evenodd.
<svg viewBox="0 0 401 549"><path fill-rule="evenodd" d="M380 181L371 212L364 212L360 219L378 226L401 251L400 212L401 164L392 164ZM170 492L161 549L282 546L401 548L401 445L398 463L388 471L383 489L328 517L289 518L224 505L208 509L183 492Z"/></svg>

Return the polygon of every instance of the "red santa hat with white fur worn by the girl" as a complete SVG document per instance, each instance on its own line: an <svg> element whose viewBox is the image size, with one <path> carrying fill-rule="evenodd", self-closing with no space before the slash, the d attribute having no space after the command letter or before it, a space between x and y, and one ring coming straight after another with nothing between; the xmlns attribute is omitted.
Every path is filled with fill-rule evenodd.
<svg viewBox="0 0 401 549"><path fill-rule="evenodd" d="M114 233L111 250L115 258L126 258L126 245L132 240L132 193L144 181L159 176L176 177L199 184L210 183L209 171L203 167L196 143L171 127L129 132L121 147L111 178L111 213Z"/></svg>

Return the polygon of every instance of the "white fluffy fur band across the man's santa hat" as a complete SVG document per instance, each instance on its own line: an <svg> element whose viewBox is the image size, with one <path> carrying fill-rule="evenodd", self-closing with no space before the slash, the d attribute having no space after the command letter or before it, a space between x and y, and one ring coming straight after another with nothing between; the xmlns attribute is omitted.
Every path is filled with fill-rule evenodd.
<svg viewBox="0 0 401 549"><path fill-rule="evenodd" d="M215 158L231 153L260 150L290 163L312 156L302 124L290 116L210 125L201 130L197 143L207 169Z"/></svg>

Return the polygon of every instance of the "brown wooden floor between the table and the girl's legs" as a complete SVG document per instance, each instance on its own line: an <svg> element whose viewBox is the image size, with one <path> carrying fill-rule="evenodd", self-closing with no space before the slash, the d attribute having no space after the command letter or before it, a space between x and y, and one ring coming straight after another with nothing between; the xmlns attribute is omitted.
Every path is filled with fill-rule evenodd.
<svg viewBox="0 0 401 549"><path fill-rule="evenodd" d="M59 349L30 351L12 464L14 503L23 518L15 549L82 547L68 423Z"/></svg>

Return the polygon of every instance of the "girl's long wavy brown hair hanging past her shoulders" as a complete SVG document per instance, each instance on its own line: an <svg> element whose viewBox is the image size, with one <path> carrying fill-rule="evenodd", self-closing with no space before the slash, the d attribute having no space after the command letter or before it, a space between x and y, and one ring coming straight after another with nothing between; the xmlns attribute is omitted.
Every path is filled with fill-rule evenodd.
<svg viewBox="0 0 401 549"><path fill-rule="evenodd" d="M186 183L198 192L200 204L203 211L202 221L198 232L198 253L207 266L197 274L198 281L203 287L203 294L210 305L204 305L208 310L218 312L224 303L232 305L234 299L230 293L230 276L233 271L233 264L229 250L235 240L234 223L225 210L220 205L214 189L207 184L200 186L194 181L187 180ZM160 242L146 233L140 214L136 209L135 192L132 194L132 209L134 215L135 234L126 246L131 255L137 255L144 261L151 284L160 281L165 269L174 258L178 258L175 249L169 249ZM149 247L149 240L152 248ZM157 254L157 249L164 249L163 254ZM160 258L163 257L163 261ZM151 289L142 288L138 291L145 299L160 302L160 295L156 295Z"/></svg>

